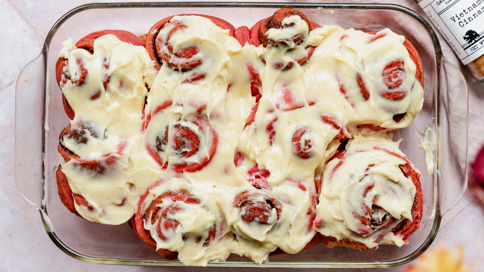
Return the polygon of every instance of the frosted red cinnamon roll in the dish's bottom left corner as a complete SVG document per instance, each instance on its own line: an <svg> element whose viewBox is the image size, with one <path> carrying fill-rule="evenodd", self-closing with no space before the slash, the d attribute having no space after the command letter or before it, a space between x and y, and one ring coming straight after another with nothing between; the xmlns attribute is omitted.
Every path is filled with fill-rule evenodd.
<svg viewBox="0 0 484 272"><path fill-rule="evenodd" d="M126 222L137 199L132 177L136 171L125 170L129 145L126 139L92 123L66 127L59 137L61 165L56 171L62 204L89 221L110 225Z"/></svg>

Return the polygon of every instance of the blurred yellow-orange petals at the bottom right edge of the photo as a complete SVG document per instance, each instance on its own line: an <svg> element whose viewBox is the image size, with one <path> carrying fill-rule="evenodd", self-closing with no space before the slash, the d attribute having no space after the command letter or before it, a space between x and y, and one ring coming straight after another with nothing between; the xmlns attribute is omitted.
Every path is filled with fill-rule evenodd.
<svg viewBox="0 0 484 272"><path fill-rule="evenodd" d="M471 272L464 267L462 246L451 250L445 245L431 249L417 259L418 264L410 265L403 272Z"/></svg>

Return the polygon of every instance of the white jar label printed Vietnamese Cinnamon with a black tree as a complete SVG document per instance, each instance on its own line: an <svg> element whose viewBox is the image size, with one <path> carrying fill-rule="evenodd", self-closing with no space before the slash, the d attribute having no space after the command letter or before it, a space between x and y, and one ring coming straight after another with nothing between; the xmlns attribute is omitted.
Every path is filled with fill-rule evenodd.
<svg viewBox="0 0 484 272"><path fill-rule="evenodd" d="M419 5L462 63L484 55L484 0L423 0Z"/></svg>

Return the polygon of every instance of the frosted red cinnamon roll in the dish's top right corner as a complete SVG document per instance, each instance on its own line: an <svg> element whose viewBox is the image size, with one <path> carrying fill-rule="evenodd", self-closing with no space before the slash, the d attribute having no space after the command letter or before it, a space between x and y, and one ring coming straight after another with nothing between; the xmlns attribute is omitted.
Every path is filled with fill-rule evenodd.
<svg viewBox="0 0 484 272"><path fill-rule="evenodd" d="M354 109L352 134L393 131L411 125L423 106L423 68L415 48L385 29L364 33L344 30L327 42L335 47L339 91ZM385 51L385 55L378 52Z"/></svg>

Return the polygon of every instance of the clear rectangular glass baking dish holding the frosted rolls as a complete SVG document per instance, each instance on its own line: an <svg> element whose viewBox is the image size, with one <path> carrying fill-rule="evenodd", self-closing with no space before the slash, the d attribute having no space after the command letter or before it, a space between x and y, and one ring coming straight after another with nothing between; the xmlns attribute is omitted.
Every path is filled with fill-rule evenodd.
<svg viewBox="0 0 484 272"><path fill-rule="evenodd" d="M54 73L64 40L74 41L104 29L146 33L158 20L176 14L205 14L226 19L236 28L252 26L287 3L104 3L77 7L62 16L45 39L39 57L21 72L15 101L15 181L22 195L40 211L52 241L72 257L86 262L182 266L165 260L136 238L128 224L91 223L69 212L57 194L57 144L69 123ZM402 247L382 245L359 252L326 248L323 243L294 255L271 256L256 264L231 255L211 261L216 267L279 268L381 268L407 263L418 257L437 235L441 217L462 198L467 186L468 92L464 77L447 62L430 25L418 14L397 5L291 4L319 25L334 24L363 31L390 28L405 35L418 50L424 69L424 104L413 125L394 133L403 138L401 150L422 172L423 219L420 229ZM435 132L434 157L427 164L420 133ZM434 170L427 173L427 166Z"/></svg>

